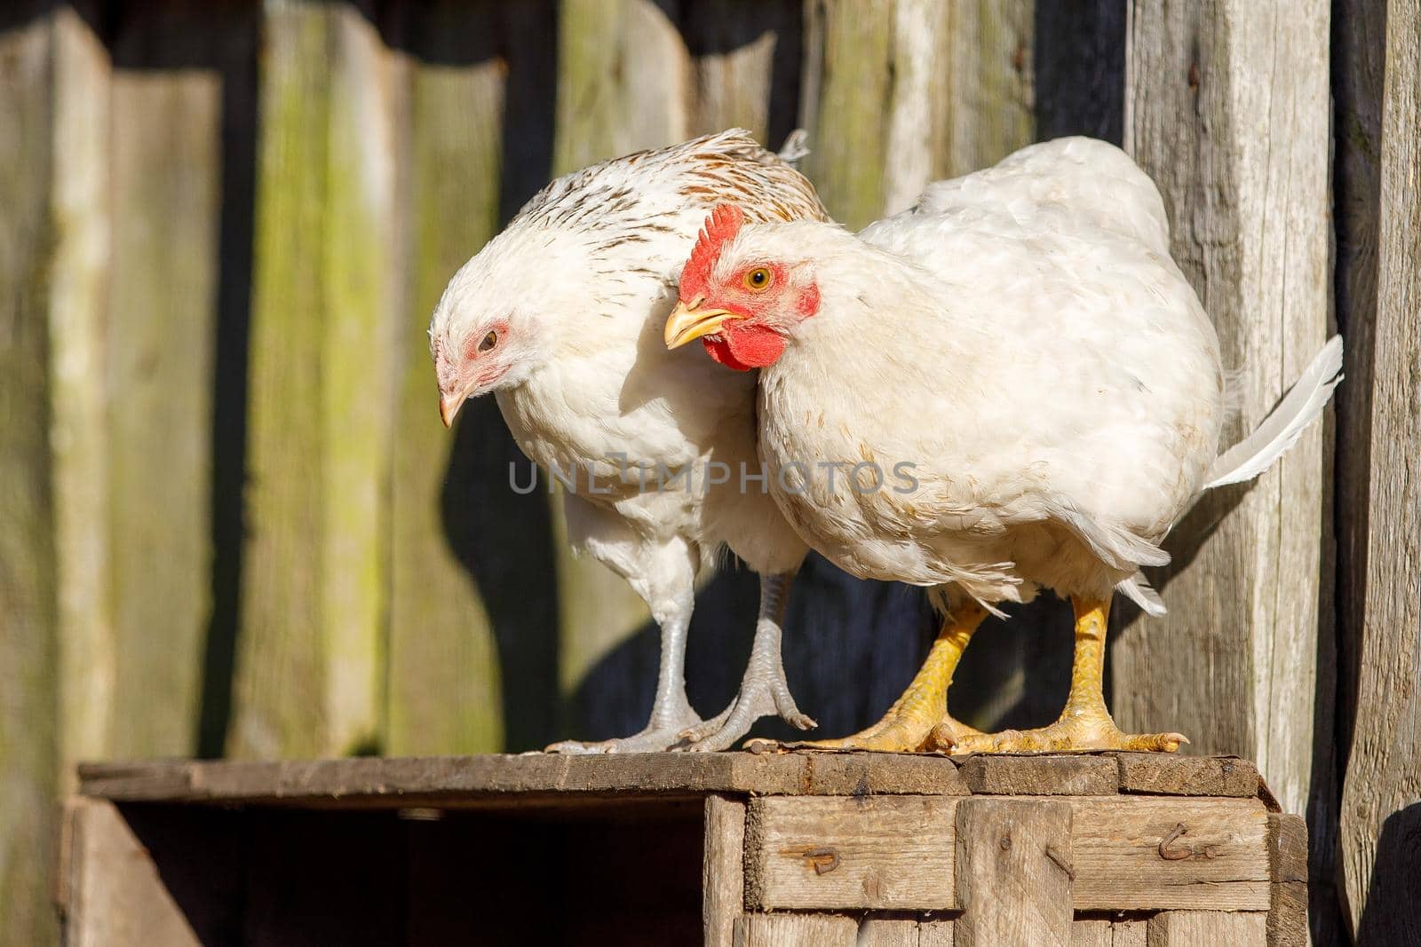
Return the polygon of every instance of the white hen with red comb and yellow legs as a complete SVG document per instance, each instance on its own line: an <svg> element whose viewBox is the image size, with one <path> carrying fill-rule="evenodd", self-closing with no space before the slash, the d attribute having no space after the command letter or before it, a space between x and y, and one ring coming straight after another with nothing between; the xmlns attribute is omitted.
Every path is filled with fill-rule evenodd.
<svg viewBox="0 0 1421 947"><path fill-rule="evenodd" d="M1164 611L1138 574L1194 498L1262 473L1314 420L1341 368L1317 355L1256 432L1219 456L1214 325L1168 254L1157 189L1091 139L1026 148L931 186L854 236L827 223L706 223L665 339L760 369L759 447L774 498L845 571L928 586L942 633L874 727L810 745L868 750L1177 750L1124 734L1101 694L1114 589ZM834 476L837 474L837 476ZM1076 612L1060 718L982 734L946 714L988 611L1037 589Z"/></svg>

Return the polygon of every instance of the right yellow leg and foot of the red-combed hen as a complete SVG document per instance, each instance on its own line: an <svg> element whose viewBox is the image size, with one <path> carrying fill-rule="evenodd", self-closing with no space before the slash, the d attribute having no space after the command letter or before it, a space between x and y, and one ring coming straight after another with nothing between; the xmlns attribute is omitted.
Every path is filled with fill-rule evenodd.
<svg viewBox="0 0 1421 947"><path fill-rule="evenodd" d="M1154 750L1174 752L1189 743L1178 733L1120 733L1106 710L1103 693L1106 670L1106 626L1110 599L1094 601L1071 596L1076 609L1076 662L1070 674L1070 699L1060 718L1039 730L1003 730L1002 733L962 734L951 726L938 726L928 738L928 748L951 752L1036 752L1050 750ZM948 721L944 721L948 724Z"/></svg>

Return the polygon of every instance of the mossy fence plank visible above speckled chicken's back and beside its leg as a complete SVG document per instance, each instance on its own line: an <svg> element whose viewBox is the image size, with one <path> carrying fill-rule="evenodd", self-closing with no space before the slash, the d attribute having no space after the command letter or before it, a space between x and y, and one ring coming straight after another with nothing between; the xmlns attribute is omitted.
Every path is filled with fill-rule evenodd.
<svg viewBox="0 0 1421 947"><path fill-rule="evenodd" d="M570 0L560 10L558 44L553 173L688 136L691 62L661 7L649 0ZM625 581L591 557L571 554L561 498L551 503L558 677L570 696L600 659L649 622L649 613ZM578 724L567 720L566 735L624 735L583 733Z"/></svg>

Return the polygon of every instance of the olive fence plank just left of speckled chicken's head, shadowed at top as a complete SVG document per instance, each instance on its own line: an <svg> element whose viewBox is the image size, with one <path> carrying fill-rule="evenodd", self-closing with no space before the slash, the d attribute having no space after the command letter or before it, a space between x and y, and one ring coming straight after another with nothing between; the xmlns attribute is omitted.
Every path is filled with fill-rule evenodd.
<svg viewBox="0 0 1421 947"><path fill-rule="evenodd" d="M496 28L492 3L472 10L445 3L411 14L405 43L412 253L398 345L385 741L396 755L504 747L499 655L475 549L517 564L519 544L536 540L517 530L502 537L477 530L489 507L516 497L504 471L470 481L459 461L487 457L492 442L509 434L492 398L465 405L456 430L445 430L425 335L449 277L499 223L504 74L492 55ZM492 549L495 542L504 549ZM516 581L537 595L551 576L527 569ZM556 700L556 693L541 699ZM540 696L522 700L531 706Z"/></svg>

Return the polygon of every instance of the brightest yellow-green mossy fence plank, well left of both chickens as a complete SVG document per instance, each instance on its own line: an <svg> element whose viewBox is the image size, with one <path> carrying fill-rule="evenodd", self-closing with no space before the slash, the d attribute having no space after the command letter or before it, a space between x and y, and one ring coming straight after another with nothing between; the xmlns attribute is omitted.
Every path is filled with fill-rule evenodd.
<svg viewBox="0 0 1421 947"><path fill-rule="evenodd" d="M264 16L250 534L229 750L350 752L375 745L384 690L389 84L360 11L271 0Z"/></svg>

